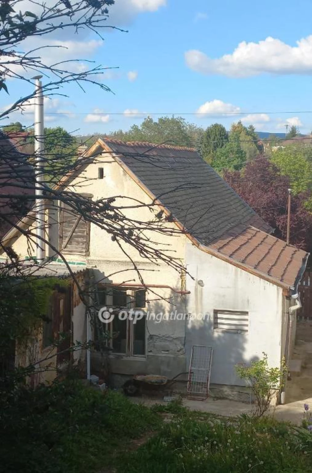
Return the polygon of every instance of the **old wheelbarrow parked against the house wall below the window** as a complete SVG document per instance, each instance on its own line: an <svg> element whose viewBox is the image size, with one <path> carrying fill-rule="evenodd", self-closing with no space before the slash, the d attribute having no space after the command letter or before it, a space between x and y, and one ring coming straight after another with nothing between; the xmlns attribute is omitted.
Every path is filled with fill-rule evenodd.
<svg viewBox="0 0 312 473"><path fill-rule="evenodd" d="M127 396L136 396L140 394L143 389L148 391L163 391L167 390L172 386L177 378L181 375L187 375L188 371L183 371L179 373L172 379L168 379L166 376L159 375L135 375L132 379L129 379L125 382L123 387L123 392Z"/></svg>

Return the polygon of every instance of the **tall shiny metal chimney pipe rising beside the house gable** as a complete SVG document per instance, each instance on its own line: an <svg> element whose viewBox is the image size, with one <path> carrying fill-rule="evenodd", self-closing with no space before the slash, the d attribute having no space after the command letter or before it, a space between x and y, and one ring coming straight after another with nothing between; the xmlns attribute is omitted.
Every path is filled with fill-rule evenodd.
<svg viewBox="0 0 312 473"><path fill-rule="evenodd" d="M35 214L36 214L36 260L39 264L43 263L45 258L45 237L44 232L44 161L43 161L43 91L42 76L35 76Z"/></svg>

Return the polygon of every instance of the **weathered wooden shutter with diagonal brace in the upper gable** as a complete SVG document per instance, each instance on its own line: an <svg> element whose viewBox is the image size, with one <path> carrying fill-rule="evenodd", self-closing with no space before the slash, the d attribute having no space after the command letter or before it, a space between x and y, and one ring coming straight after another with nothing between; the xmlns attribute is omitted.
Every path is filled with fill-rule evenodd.
<svg viewBox="0 0 312 473"><path fill-rule="evenodd" d="M87 255L89 252L90 222L61 202L60 251Z"/></svg>

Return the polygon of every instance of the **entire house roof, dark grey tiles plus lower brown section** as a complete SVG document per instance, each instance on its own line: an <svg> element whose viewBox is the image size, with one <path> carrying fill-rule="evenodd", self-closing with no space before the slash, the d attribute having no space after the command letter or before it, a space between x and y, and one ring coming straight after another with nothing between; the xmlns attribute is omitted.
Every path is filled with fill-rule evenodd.
<svg viewBox="0 0 312 473"><path fill-rule="evenodd" d="M307 254L269 227L194 149L105 139L188 233L227 261L295 288Z"/></svg>

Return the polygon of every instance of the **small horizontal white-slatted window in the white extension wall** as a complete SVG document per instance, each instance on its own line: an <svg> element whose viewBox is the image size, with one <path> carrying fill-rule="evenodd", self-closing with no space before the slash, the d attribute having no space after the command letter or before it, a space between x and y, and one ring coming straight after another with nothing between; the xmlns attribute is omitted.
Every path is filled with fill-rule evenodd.
<svg viewBox="0 0 312 473"><path fill-rule="evenodd" d="M213 328L217 332L248 333L248 312L214 310Z"/></svg>

